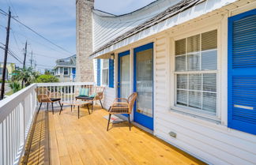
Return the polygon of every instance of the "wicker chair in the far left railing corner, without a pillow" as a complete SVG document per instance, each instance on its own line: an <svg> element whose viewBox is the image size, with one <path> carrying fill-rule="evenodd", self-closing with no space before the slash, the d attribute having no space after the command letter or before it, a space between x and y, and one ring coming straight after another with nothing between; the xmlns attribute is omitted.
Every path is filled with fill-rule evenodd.
<svg viewBox="0 0 256 165"><path fill-rule="evenodd" d="M36 90L37 100L40 103L40 107L39 107L37 113L39 113L40 108L42 106L42 103L47 103L47 110L48 110L49 103L51 103L52 114L55 114L53 103L58 101L59 105L61 106L61 103L60 103L61 94L60 94L60 92L50 92L50 91L48 91L47 88L36 88L35 90Z"/></svg>

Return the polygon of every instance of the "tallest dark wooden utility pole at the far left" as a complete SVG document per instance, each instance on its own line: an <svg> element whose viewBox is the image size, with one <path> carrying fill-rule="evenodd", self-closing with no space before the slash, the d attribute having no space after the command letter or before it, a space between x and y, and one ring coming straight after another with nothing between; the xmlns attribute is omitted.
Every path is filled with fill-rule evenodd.
<svg viewBox="0 0 256 165"><path fill-rule="evenodd" d="M0 99L3 99L4 95L5 95L6 62L7 62L8 48L9 48L9 25L10 25L10 18L11 18L11 12L9 10L8 23L7 23L7 29L6 29L6 50L5 50L5 58L4 58L4 64L3 64L3 69L2 69L2 87L1 87Z"/></svg>

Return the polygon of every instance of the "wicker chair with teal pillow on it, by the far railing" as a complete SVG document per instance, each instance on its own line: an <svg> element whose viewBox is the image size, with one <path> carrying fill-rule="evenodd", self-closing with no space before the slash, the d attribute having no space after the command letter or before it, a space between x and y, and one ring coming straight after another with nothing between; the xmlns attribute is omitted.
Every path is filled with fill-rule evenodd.
<svg viewBox="0 0 256 165"><path fill-rule="evenodd" d="M92 87L85 87L79 89L79 95L76 96L77 99L82 99L84 101L91 101L92 102L92 110L93 110L93 103L97 100L100 101L100 105L102 106L101 100L104 97L104 87L100 86L92 86Z"/></svg>

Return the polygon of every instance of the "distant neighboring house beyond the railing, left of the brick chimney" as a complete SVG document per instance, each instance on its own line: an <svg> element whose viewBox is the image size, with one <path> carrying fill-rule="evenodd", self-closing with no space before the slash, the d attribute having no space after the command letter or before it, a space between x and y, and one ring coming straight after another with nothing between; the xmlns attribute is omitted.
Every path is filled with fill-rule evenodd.
<svg viewBox="0 0 256 165"><path fill-rule="evenodd" d="M76 55L58 59L53 73L60 82L74 81L76 78Z"/></svg>

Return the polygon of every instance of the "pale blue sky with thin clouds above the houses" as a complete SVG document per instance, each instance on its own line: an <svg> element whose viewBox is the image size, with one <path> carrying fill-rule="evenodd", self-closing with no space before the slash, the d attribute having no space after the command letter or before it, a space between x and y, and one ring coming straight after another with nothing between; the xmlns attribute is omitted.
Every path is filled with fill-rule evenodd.
<svg viewBox="0 0 256 165"><path fill-rule="evenodd" d="M154 0L95 0L95 8L108 13L123 14L139 9ZM41 35L66 50L76 52L76 9L75 0L1 0L0 9L5 11L11 7L12 15L36 30ZM0 46L6 43L7 17L0 14ZM31 51L36 58L37 69L55 66L57 58L65 58L71 54L60 50L58 47L47 43L28 29L11 21L9 49L17 54L23 62L24 43L28 40L27 65L30 65ZM0 49L0 61L3 61L4 52ZM8 62L17 62L13 57L8 57Z"/></svg>

